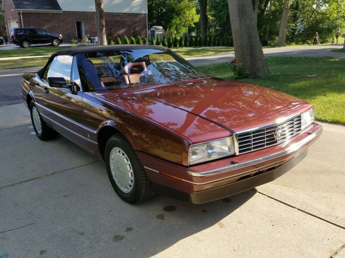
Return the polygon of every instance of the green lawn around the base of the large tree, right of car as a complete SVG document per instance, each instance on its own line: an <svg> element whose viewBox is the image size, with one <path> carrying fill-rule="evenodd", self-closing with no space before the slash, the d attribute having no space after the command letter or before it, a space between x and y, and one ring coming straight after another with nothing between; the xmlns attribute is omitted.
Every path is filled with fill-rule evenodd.
<svg viewBox="0 0 345 258"><path fill-rule="evenodd" d="M240 79L304 99L313 104L319 121L345 125L345 62L332 57L267 58L271 76ZM234 79L228 63L199 66L202 72L220 78ZM309 78L305 75L315 74Z"/></svg>

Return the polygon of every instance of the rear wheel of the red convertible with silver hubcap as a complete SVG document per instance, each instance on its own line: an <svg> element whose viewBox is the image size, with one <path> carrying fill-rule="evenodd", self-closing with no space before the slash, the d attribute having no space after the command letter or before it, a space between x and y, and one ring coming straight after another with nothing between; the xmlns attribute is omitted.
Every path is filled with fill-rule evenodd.
<svg viewBox="0 0 345 258"><path fill-rule="evenodd" d="M47 141L56 138L58 135L57 131L49 127L47 123L43 121L33 100L30 103L30 115L33 129L35 130L35 133L39 139L42 141Z"/></svg>

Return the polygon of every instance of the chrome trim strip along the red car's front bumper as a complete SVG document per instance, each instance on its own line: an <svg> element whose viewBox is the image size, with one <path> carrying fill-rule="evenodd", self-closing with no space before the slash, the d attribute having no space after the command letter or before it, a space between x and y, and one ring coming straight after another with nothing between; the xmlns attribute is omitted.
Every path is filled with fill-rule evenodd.
<svg viewBox="0 0 345 258"><path fill-rule="evenodd" d="M322 127L319 128L313 134L311 134L311 135L307 136L306 138L304 138L303 140L300 140L299 142L296 142L296 143L292 144L287 149L282 150L282 151L278 151L278 152L273 153L273 154L269 154L269 155L263 156L261 158L257 158L257 159L253 159L253 160L248 160L246 162L225 166L225 167L220 168L220 169L207 170L207 171L203 171L203 172L195 172L195 171L188 170L188 174L191 175L191 176L214 175L214 174L218 174L218 173L223 173L223 172L231 171L231 170L234 170L234 169L243 168L245 166L250 166L250 165L253 165L253 164L256 164L256 163L260 163L260 162L263 162L263 161L267 161L267 160L270 160L270 159L274 159L274 158L277 158L279 156L282 156L282 155L285 155L285 154L289 154L289 153L291 153L293 151L298 150L304 144L306 144L307 142L309 142L313 138L315 138L319 133L321 133L321 131L322 131ZM257 170L257 169L260 169L260 168L255 168L254 170ZM248 171L246 171L245 173L247 173L247 172ZM236 175L236 176L238 176L238 175ZM218 180L220 180L220 179L218 179ZM216 181L218 181L218 180L216 180Z"/></svg>

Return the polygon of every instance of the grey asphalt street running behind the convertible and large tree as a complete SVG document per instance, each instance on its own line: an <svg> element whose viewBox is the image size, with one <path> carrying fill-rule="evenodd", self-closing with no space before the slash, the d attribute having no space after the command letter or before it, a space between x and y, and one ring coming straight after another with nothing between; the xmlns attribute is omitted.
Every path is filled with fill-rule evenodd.
<svg viewBox="0 0 345 258"><path fill-rule="evenodd" d="M337 58L344 58L343 53L329 52L332 49L338 49L341 44L338 45L320 45L320 46L294 46L294 47L274 47L270 49L264 49L266 57L270 56L309 56L309 57L321 57L331 56ZM207 64L218 64L229 62L235 58L234 52L228 54L218 54L200 57L188 57L191 64L195 66L207 65ZM20 62L20 61L18 61ZM25 62L29 62L26 60ZM1 61L0 61L1 65ZM21 77L25 72L37 72L40 67L34 68L22 68L22 69L11 69L11 70L0 70L0 106L12 105L21 103L20 97L20 84Z"/></svg>

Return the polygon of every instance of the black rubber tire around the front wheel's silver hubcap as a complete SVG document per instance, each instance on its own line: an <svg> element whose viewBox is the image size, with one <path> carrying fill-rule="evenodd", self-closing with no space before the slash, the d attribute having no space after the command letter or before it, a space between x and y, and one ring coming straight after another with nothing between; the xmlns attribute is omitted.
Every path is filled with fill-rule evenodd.
<svg viewBox="0 0 345 258"><path fill-rule="evenodd" d="M120 189L111 173L110 153L112 149L116 147L125 152L132 167L134 183L132 186L132 190L129 193L125 193ZM151 181L144 170L144 166L141 164L137 154L135 153L130 143L121 134L115 134L108 139L105 147L105 163L112 187L114 188L117 195L125 202L136 204L145 201L155 195L151 186Z"/></svg>

